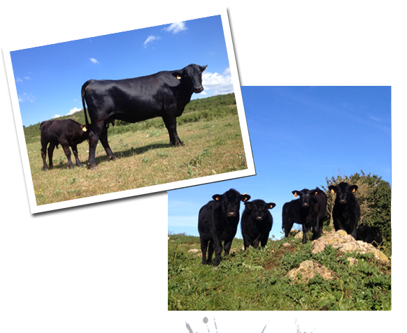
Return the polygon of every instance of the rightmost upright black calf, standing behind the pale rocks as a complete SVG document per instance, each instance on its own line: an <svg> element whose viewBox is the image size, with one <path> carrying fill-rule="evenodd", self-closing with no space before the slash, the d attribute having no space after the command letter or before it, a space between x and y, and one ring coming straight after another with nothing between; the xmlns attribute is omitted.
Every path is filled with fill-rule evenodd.
<svg viewBox="0 0 407 333"><path fill-rule="evenodd" d="M356 239L357 221L359 221L360 217L359 202L357 202L355 197L357 185L341 182L336 186L330 185L328 188L331 193L336 193L334 209L332 211L335 230L345 230Z"/></svg>

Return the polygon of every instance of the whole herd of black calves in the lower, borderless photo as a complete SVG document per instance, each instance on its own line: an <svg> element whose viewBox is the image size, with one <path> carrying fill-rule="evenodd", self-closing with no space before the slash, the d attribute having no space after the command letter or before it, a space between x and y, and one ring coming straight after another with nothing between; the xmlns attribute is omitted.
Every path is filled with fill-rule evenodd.
<svg viewBox="0 0 407 333"><path fill-rule="evenodd" d="M355 239L373 244L383 242L379 228L359 225L360 207L355 196L356 185L341 182L336 186L329 186L331 193L336 193L332 212L335 230L345 230ZM313 190L292 191L294 199L283 205L283 230L288 236L294 223L302 225L302 243L306 244L306 232L312 229L312 239L318 239L322 233L322 222L327 212L327 195L320 188ZM213 195L206 205L199 210L198 231L201 239L202 263L213 265L220 263L222 247L224 256L229 255L231 242L236 235L239 222L241 201L245 204L241 219L241 230L244 249L249 246L257 248L265 246L273 225L273 216L269 209L276 207L273 202L264 200L250 200L250 195L241 194L231 188L223 194ZM222 242L224 242L222 246ZM208 256L206 253L208 251Z"/></svg>

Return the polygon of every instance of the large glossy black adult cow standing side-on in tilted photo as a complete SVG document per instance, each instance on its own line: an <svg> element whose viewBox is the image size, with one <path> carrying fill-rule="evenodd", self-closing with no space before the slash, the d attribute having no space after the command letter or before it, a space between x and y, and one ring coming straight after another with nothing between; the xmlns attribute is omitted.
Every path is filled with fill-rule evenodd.
<svg viewBox="0 0 407 333"><path fill-rule="evenodd" d="M108 124L115 119L135 123L162 117L173 145L183 145L177 134L176 117L183 114L193 93L203 91L202 72L206 66L188 65L178 71L124 80L88 80L82 86L82 103L85 122L92 126L89 134L89 165L96 166L94 154L100 140L109 159L115 159L108 144Z"/></svg>

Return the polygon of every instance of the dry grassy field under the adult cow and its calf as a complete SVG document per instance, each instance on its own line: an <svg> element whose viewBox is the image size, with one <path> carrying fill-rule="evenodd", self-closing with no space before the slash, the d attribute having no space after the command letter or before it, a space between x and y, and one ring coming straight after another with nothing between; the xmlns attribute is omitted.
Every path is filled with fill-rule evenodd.
<svg viewBox="0 0 407 333"><path fill-rule="evenodd" d="M37 205L247 169L236 104L231 95L223 99L215 96L219 97L217 103L213 103L214 98L206 98L210 103L205 100L190 103L186 114L178 117L183 147L170 145L168 131L160 118L110 126L109 145L117 160L108 161L99 142L98 167L94 170L69 169L59 147L54 151L54 168L44 172L39 125L29 126L25 129L26 143ZM84 124L83 112L76 116ZM78 145L79 160L84 166L88 147L86 141ZM75 164L73 154L71 158Z"/></svg>

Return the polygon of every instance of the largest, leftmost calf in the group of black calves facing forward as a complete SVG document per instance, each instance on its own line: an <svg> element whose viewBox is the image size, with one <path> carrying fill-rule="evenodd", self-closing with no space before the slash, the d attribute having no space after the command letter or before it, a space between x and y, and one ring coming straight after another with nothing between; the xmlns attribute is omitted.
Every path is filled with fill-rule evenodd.
<svg viewBox="0 0 407 333"><path fill-rule="evenodd" d="M238 193L231 188L222 195L213 195L212 198L213 200L199 209L198 231L201 239L202 263L210 264L215 250L213 266L217 266L222 253L222 241L224 241L224 256L229 255L231 242L236 235L239 223L241 201L250 200L250 195ZM206 259L206 249L208 249L208 259Z"/></svg>

